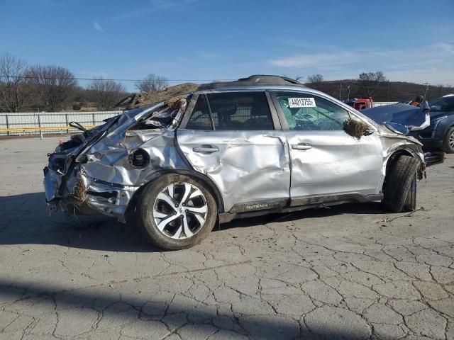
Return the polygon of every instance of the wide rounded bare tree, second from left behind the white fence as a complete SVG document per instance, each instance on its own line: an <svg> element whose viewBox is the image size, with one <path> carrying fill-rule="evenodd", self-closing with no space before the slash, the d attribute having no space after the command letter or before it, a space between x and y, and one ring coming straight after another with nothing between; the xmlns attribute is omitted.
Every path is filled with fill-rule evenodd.
<svg viewBox="0 0 454 340"><path fill-rule="evenodd" d="M59 111L77 86L74 74L65 67L35 65L28 69L27 76L39 105L46 111Z"/></svg>

